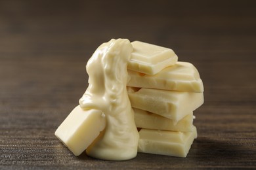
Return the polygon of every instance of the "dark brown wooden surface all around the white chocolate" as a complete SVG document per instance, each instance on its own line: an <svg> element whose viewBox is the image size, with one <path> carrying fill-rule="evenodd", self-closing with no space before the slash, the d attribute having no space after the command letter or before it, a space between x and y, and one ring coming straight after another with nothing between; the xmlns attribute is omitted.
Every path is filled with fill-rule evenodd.
<svg viewBox="0 0 256 170"><path fill-rule="evenodd" d="M205 87L187 158L75 157L54 131L112 38L172 48ZM0 169L256 168L255 1L0 1Z"/></svg>

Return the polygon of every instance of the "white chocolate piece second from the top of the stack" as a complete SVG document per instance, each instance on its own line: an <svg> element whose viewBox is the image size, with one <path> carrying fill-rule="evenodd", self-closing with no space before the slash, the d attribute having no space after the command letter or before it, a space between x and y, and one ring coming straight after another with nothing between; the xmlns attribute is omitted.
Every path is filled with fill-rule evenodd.
<svg viewBox="0 0 256 170"><path fill-rule="evenodd" d="M127 86L137 88L156 88L183 92L203 92L203 82L194 65L177 61L175 65L166 67L156 75L145 75L136 71L128 71L131 80Z"/></svg>

